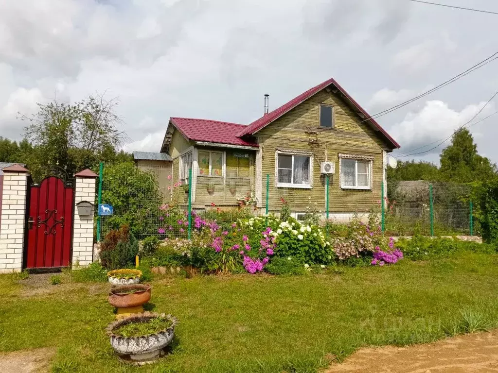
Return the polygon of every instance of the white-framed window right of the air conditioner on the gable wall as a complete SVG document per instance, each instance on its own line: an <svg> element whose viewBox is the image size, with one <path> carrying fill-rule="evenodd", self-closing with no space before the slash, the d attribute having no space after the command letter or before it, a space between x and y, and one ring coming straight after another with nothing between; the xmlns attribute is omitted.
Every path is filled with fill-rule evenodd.
<svg viewBox="0 0 498 373"><path fill-rule="evenodd" d="M372 160L369 156L339 155L341 187L344 189L371 189Z"/></svg>

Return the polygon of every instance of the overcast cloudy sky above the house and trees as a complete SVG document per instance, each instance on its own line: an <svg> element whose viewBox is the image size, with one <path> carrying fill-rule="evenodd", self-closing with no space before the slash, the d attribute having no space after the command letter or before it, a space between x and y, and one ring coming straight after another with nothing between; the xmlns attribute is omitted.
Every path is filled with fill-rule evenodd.
<svg viewBox="0 0 498 373"><path fill-rule="evenodd" d="M489 0L440 2L498 11ZM1 1L0 136L21 138L16 114L36 102L107 92L120 99L125 149L159 151L170 116L249 123L263 93L271 110L330 77L374 114L497 52L497 22L408 0ZM471 119L498 90L497 72L498 60L380 117L398 155ZM494 162L496 123L471 127Z"/></svg>

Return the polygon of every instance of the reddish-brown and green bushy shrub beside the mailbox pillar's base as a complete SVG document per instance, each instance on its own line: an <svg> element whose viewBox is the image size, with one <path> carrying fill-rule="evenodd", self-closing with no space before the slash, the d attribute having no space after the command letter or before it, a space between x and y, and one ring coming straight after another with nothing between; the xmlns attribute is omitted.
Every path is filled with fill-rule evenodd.
<svg viewBox="0 0 498 373"><path fill-rule="evenodd" d="M127 225L112 230L101 245L100 260L108 270L133 266L138 254L138 241L129 232Z"/></svg>

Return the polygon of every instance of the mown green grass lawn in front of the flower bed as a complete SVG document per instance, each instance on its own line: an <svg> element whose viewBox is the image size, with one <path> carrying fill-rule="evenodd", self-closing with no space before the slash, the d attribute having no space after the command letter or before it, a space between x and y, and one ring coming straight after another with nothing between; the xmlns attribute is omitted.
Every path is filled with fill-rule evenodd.
<svg viewBox="0 0 498 373"><path fill-rule="evenodd" d="M178 317L173 354L134 368L104 328L109 284L27 291L0 276L0 351L57 348L53 372L316 372L365 345L430 342L498 326L498 255L460 254L301 277L152 281L155 311ZM329 354L329 355L327 355Z"/></svg>

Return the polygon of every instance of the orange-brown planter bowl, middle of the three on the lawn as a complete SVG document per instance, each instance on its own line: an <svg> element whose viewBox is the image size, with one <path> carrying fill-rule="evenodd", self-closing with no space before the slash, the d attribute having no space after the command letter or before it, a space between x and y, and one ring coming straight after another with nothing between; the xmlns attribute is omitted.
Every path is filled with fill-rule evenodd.
<svg viewBox="0 0 498 373"><path fill-rule="evenodd" d="M118 319L133 313L143 313L143 305L150 300L150 286L140 283L116 286L109 292L108 300L118 309Z"/></svg>

